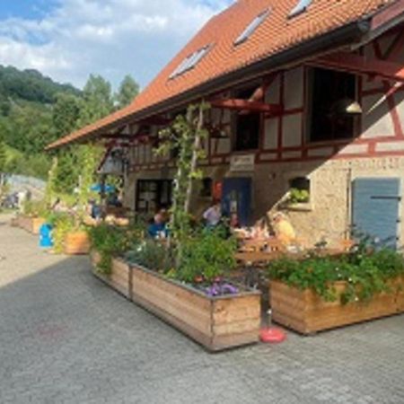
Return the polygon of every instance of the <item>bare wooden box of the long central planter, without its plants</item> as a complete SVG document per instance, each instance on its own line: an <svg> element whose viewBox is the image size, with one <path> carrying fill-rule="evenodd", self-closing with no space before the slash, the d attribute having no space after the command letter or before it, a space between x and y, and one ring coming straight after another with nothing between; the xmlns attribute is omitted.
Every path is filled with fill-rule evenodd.
<svg viewBox="0 0 404 404"><path fill-rule="evenodd" d="M260 293L208 297L132 266L132 299L211 351L258 342Z"/></svg>

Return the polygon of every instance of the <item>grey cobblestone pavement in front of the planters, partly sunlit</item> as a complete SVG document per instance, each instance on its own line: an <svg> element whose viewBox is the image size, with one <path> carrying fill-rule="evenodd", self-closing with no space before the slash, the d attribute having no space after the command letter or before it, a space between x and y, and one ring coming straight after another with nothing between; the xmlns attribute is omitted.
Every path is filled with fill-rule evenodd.
<svg viewBox="0 0 404 404"><path fill-rule="evenodd" d="M0 403L404 403L404 316L209 355L0 217Z"/></svg>

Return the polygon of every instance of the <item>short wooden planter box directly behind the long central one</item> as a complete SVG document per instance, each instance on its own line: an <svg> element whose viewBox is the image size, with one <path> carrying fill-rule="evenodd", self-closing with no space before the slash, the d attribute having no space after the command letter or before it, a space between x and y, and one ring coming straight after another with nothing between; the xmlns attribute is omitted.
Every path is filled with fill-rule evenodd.
<svg viewBox="0 0 404 404"><path fill-rule="evenodd" d="M95 277L101 279L101 281L105 282L107 285L110 285L113 289L115 289L119 294L123 294L128 299L131 299L131 268L123 259L112 259L111 264L111 272L109 275L103 275L99 271L97 271L97 265L100 263L101 257L99 252L92 251L91 253L92 259L92 273Z"/></svg>

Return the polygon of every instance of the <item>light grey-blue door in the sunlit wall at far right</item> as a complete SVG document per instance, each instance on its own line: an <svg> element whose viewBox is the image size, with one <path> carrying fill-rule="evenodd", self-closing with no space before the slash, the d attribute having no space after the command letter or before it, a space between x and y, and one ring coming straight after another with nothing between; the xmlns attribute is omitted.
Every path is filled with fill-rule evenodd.
<svg viewBox="0 0 404 404"><path fill-rule="evenodd" d="M353 182L354 231L397 248L399 235L400 179L364 178Z"/></svg>

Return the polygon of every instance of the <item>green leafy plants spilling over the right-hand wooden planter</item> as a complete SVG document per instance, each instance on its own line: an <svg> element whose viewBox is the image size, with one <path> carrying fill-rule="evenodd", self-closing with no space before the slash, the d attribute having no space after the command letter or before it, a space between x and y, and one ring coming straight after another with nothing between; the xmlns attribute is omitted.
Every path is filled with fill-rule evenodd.
<svg viewBox="0 0 404 404"><path fill-rule="evenodd" d="M270 263L268 276L298 289L312 289L325 301L338 298L335 282L345 281L341 303L369 301L374 294L391 292L389 280L404 274L404 259L393 250L356 250L337 258L311 257Z"/></svg>

